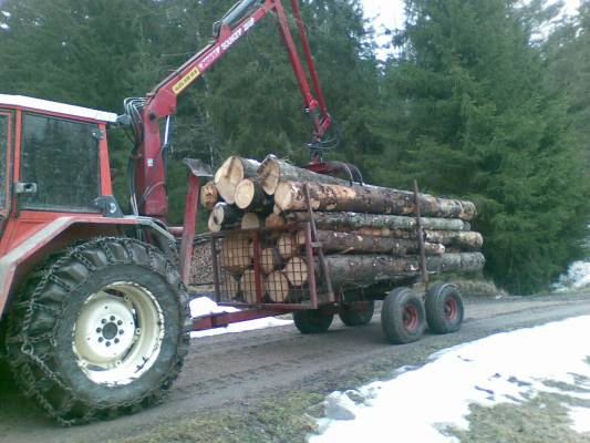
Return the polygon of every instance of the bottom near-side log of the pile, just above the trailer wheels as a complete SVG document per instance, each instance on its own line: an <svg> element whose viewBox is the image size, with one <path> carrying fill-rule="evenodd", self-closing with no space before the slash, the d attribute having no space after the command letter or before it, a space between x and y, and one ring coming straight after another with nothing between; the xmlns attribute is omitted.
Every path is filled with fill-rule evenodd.
<svg viewBox="0 0 590 443"><path fill-rule="evenodd" d="M327 256L325 261L334 289L341 288L343 285L371 286L380 281L395 281L420 275L420 257L417 256L334 255ZM426 269L429 274L441 271L475 272L480 271L484 264L485 258L480 253L426 257Z"/></svg>

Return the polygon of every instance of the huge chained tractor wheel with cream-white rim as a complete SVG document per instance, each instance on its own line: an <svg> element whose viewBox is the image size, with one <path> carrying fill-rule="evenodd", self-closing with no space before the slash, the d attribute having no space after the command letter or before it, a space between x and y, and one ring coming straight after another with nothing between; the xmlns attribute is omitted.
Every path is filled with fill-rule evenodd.
<svg viewBox="0 0 590 443"><path fill-rule="evenodd" d="M158 249L99 238L29 278L6 342L23 392L69 425L158 402L180 371L189 328L178 271Z"/></svg>

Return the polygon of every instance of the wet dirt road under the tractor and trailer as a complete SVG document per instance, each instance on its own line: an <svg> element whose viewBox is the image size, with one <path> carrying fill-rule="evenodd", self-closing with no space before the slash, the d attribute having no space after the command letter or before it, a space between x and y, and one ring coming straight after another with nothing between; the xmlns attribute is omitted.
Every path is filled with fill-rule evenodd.
<svg viewBox="0 0 590 443"><path fill-rule="evenodd" d="M73 429L45 419L3 380L0 442L297 441L309 431L309 421L298 418L332 390L387 377L397 368L421 364L431 353L465 341L583 315L590 315L590 293L467 298L459 332L426 332L420 342L406 346L385 343L379 316L364 328L345 328L334 321L330 331L320 336L302 336L290 326L198 339L162 405ZM569 344L576 346L576 338ZM286 431L289 423L292 426Z"/></svg>

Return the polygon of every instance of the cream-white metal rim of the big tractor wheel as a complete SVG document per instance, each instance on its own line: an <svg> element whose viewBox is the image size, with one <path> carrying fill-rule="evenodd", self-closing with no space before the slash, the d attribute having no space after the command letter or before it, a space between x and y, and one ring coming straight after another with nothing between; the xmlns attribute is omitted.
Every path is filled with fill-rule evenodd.
<svg viewBox="0 0 590 443"><path fill-rule="evenodd" d="M84 302L73 328L79 368L97 384L128 384L159 356L165 324L154 295L134 282L115 282Z"/></svg>

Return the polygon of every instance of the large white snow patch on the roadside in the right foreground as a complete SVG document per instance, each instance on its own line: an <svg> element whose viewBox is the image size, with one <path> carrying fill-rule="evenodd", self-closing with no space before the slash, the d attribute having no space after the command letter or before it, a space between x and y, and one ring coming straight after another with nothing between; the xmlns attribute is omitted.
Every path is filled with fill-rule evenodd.
<svg viewBox="0 0 590 443"><path fill-rule="evenodd" d="M375 443L456 442L444 430L448 425L467 429L469 404L518 403L539 392L563 393L555 388L556 381L581 388L568 390L568 395L590 400L587 337L590 316L443 350L420 369L401 369L393 380L330 394L324 401L327 418L318 421L320 434L311 435L309 442L368 437ZM570 408L569 416L575 431L590 431L589 409Z"/></svg>

